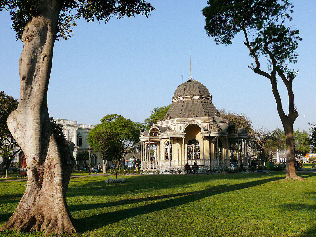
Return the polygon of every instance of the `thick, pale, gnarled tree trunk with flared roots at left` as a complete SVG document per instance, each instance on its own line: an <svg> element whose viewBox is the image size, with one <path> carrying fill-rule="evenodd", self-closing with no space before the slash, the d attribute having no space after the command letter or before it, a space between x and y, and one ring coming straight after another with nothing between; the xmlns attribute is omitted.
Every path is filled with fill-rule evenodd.
<svg viewBox="0 0 316 237"><path fill-rule="evenodd" d="M42 1L39 15L27 23L21 36L20 101L7 124L26 158L27 187L0 231L45 231L45 235L75 231L65 199L75 164L74 144L55 139L47 109L60 9L58 1Z"/></svg>

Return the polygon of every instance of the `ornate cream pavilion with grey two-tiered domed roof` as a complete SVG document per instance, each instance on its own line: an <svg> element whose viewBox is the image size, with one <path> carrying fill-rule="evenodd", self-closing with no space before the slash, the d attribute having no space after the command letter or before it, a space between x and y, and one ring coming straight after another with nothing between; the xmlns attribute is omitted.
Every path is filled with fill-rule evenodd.
<svg viewBox="0 0 316 237"><path fill-rule="evenodd" d="M190 79L175 90L165 118L141 132L141 166L170 169L196 162L213 168L228 167L234 161L248 166L246 137L243 128L221 117L209 90ZM232 146L238 152L230 152Z"/></svg>

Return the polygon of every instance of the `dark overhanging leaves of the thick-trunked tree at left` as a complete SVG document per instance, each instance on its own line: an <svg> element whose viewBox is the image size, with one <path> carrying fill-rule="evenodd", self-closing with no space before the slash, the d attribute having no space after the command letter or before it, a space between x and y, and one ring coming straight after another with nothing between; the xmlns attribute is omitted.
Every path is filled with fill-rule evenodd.
<svg viewBox="0 0 316 237"><path fill-rule="evenodd" d="M0 11L9 11L12 15L12 29L16 39L20 39L25 25L32 17L42 14L40 5L43 0L0 0ZM84 18L86 21L104 21L112 17L135 17L135 15L149 16L155 8L145 0L59 0L61 13L58 22L58 39L69 39L73 34L76 20Z"/></svg>

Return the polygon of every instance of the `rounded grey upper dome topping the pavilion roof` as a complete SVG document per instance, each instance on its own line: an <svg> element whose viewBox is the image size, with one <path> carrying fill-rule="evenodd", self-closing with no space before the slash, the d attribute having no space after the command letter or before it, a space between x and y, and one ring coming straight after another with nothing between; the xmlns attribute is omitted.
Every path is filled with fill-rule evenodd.
<svg viewBox="0 0 316 237"><path fill-rule="evenodd" d="M202 83L190 79L187 82L182 83L175 90L173 97L178 98L180 96L192 96L201 95L210 97L210 92Z"/></svg>

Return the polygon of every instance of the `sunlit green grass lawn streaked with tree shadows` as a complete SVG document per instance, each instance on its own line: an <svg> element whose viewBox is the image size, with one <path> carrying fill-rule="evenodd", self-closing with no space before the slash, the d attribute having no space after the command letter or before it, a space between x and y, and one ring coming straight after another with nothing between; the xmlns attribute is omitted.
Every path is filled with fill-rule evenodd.
<svg viewBox="0 0 316 237"><path fill-rule="evenodd" d="M316 174L300 175L306 180L285 181L285 173L138 175L123 184L73 178L67 192L79 231L73 236L316 236ZM0 183L0 225L25 183Z"/></svg>

